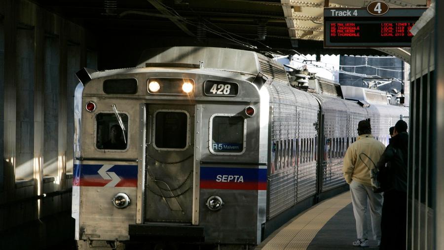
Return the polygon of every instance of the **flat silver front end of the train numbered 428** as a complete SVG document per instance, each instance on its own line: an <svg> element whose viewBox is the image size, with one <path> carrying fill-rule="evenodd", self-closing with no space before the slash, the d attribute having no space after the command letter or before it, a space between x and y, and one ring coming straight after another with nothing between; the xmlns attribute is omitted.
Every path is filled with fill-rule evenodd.
<svg viewBox="0 0 444 250"><path fill-rule="evenodd" d="M269 110L265 88L249 73L258 71L255 55L229 50L236 72L213 69L223 58L211 69L156 59L162 63L79 72L72 205L79 249L260 242Z"/></svg>

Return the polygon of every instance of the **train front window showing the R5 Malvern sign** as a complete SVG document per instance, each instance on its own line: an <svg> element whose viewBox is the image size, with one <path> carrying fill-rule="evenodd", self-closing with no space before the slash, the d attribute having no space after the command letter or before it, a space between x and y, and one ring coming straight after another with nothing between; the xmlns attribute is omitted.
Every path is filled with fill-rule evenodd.
<svg viewBox="0 0 444 250"><path fill-rule="evenodd" d="M245 151L246 120L240 116L218 116L210 119L210 151L214 154L239 155Z"/></svg>

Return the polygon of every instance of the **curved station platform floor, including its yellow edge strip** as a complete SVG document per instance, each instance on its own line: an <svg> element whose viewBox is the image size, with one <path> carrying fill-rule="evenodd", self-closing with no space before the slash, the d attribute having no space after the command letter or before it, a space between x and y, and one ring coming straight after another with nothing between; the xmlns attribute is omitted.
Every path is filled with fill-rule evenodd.
<svg viewBox="0 0 444 250"><path fill-rule="evenodd" d="M356 224L350 192L344 192L300 213L267 237L255 250L375 250L368 212L369 247L354 247Z"/></svg>

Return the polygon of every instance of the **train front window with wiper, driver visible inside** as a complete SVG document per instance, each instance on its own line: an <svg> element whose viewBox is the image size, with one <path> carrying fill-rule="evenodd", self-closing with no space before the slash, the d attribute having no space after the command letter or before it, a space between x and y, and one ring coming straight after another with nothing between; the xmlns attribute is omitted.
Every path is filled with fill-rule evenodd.
<svg viewBox="0 0 444 250"><path fill-rule="evenodd" d="M119 114L125 131L114 113L100 113L96 116L96 147L98 149L124 150L128 146L128 116Z"/></svg>

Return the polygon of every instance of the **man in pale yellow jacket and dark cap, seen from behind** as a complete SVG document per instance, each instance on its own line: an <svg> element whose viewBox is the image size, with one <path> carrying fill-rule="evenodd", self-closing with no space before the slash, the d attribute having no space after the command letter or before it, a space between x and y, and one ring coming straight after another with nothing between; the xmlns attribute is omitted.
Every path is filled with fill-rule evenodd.
<svg viewBox="0 0 444 250"><path fill-rule="evenodd" d="M384 144L371 135L370 121L364 120L358 124L358 138L345 153L344 173L345 181L350 185L353 213L356 220L358 240L353 242L355 247L368 247L367 238L367 199L370 204L371 227L373 238L381 240L381 211L382 194L373 193L370 179L370 169L375 167L385 150Z"/></svg>

